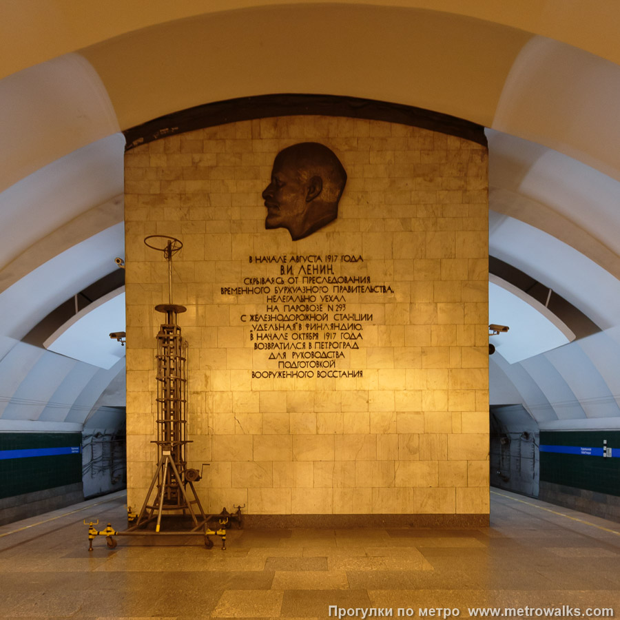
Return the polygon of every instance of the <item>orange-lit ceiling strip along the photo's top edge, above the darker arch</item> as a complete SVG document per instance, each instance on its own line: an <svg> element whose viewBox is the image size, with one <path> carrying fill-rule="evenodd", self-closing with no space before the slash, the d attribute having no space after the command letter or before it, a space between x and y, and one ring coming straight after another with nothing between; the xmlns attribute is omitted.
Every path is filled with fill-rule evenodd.
<svg viewBox="0 0 620 620"><path fill-rule="evenodd" d="M271 0L282 6L291 0ZM302 4L302 2L297 2ZM518 3L492 0L341 0L340 6L364 6L372 3L389 9L407 6L435 10L465 18L475 18L534 32L570 43L611 61L620 62L617 32L620 19L613 3L597 5L566 3L561 0L541 4L537 0ZM93 45L118 35L149 26L195 17L207 12L221 12L260 6L256 0L150 0L143 3L108 0L106 3L75 3L74 0L5 0L0 20L0 76L41 63L78 48ZM323 0L306 0L303 4L324 6Z"/></svg>

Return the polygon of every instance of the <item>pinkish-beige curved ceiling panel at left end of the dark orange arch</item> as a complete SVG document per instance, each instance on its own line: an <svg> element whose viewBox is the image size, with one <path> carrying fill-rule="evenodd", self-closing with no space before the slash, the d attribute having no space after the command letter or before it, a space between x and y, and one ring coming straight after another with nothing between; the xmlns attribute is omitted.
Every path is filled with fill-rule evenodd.
<svg viewBox="0 0 620 620"><path fill-rule="evenodd" d="M105 86L79 54L1 80L0 107L0 192L119 129Z"/></svg>

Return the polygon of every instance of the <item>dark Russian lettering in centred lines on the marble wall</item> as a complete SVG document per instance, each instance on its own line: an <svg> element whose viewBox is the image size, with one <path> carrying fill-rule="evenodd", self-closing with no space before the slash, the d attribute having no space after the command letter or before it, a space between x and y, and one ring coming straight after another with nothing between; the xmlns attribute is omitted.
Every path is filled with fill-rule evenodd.
<svg viewBox="0 0 620 620"><path fill-rule="evenodd" d="M255 352L252 378L362 378L350 353L364 346L364 326L375 323L369 308L375 296L382 302L394 292L391 285L372 282L361 255L248 256L247 262L269 273L246 276L220 294L254 298L256 311L239 316Z"/></svg>

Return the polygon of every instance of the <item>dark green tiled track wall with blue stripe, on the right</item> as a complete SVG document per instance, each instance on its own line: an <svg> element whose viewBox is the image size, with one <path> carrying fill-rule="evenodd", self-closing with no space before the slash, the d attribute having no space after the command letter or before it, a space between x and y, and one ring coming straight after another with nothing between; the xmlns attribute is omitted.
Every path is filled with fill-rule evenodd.
<svg viewBox="0 0 620 620"><path fill-rule="evenodd" d="M602 448L620 451L619 431L541 431L540 444ZM603 458L577 454L540 453L541 482L553 482L597 493L620 495L620 457Z"/></svg>

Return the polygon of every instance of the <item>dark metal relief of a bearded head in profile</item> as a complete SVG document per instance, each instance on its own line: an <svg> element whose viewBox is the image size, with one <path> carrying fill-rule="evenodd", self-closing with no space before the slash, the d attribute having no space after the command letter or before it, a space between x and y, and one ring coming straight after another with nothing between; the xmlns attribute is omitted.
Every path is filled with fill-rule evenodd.
<svg viewBox="0 0 620 620"><path fill-rule="evenodd" d="M262 192L265 229L285 228L293 241L307 237L338 217L345 183L347 173L328 147L302 142L282 149Z"/></svg>

